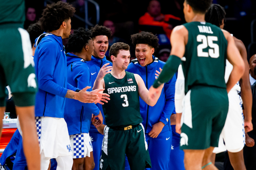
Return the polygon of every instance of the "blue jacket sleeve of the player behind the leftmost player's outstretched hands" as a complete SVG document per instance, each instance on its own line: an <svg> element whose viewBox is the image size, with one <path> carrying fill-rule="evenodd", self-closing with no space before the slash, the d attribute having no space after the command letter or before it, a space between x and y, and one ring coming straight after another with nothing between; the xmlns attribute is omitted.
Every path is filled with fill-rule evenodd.
<svg viewBox="0 0 256 170"><path fill-rule="evenodd" d="M83 89L84 87L91 85L89 75L90 72L83 63L80 63L73 67L72 77L73 80L77 82L78 89ZM91 91L91 88L87 91ZM86 109L87 112L90 112L95 116L99 114L99 109L94 103L83 103L83 107Z"/></svg>

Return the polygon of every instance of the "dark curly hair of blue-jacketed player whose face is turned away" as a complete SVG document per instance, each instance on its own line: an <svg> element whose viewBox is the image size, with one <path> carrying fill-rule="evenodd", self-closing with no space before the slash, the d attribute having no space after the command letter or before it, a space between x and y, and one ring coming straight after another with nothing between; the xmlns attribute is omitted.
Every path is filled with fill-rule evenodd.
<svg viewBox="0 0 256 170"><path fill-rule="evenodd" d="M69 35L67 41L67 50L70 52L81 52L82 48L88 44L91 33L89 29L84 29L82 27L74 30L74 32Z"/></svg>

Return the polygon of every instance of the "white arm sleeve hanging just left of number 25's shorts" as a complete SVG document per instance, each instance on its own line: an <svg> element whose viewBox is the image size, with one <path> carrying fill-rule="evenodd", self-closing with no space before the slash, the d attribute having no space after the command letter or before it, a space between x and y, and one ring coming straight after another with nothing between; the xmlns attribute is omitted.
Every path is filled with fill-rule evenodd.
<svg viewBox="0 0 256 170"><path fill-rule="evenodd" d="M176 113L182 113L182 108L183 108L183 98L185 97L185 78L182 70L181 64L178 67L178 76L177 76L177 81L175 84L175 109Z"/></svg>

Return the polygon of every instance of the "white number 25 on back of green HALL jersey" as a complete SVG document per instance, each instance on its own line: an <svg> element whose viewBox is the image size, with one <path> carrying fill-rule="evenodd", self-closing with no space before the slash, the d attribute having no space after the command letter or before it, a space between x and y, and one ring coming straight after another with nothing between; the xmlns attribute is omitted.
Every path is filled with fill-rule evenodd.
<svg viewBox="0 0 256 170"><path fill-rule="evenodd" d="M216 36L205 36L205 35L197 35L197 42L202 42L197 46L197 56L198 57L208 57L218 58L219 57L219 47L218 44L213 43L213 41L217 41L218 37ZM203 52L202 50L207 47L213 48L209 49L208 52Z"/></svg>

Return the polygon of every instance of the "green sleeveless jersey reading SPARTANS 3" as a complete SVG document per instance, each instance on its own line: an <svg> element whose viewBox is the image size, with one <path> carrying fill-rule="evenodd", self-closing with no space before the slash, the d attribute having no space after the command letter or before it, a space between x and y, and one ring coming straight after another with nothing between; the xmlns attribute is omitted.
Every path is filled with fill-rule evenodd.
<svg viewBox="0 0 256 170"><path fill-rule="evenodd" d="M105 125L124 128L142 122L139 111L138 85L134 74L125 71L122 79L111 74L104 76L105 90L110 100L102 105Z"/></svg>

